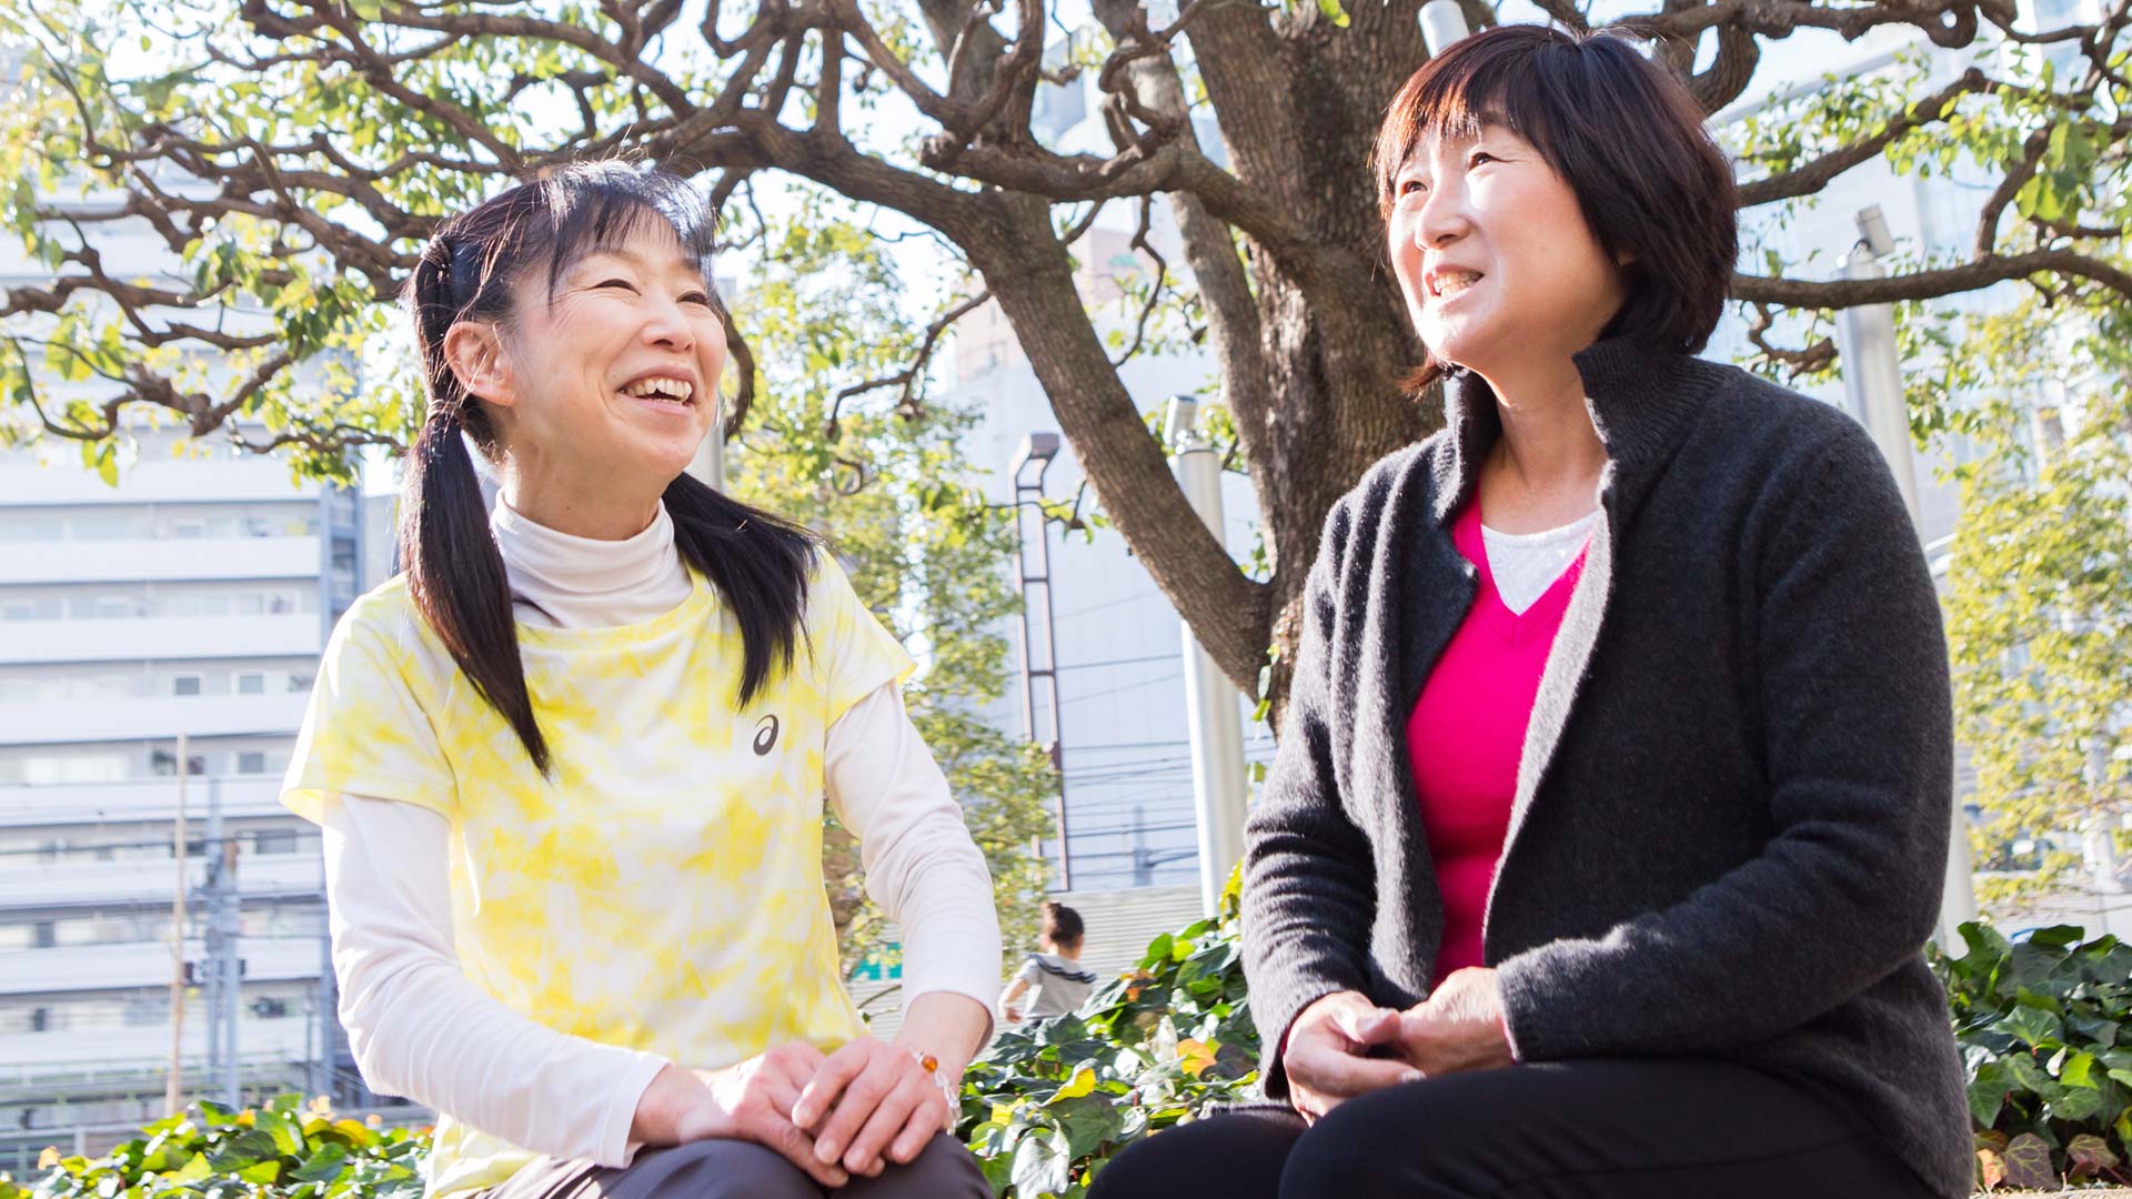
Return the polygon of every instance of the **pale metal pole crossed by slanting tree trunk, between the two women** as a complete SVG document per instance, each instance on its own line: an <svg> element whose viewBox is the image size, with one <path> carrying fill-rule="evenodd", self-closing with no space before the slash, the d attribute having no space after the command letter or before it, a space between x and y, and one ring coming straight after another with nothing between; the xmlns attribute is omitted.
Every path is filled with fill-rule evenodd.
<svg viewBox="0 0 2132 1199"><path fill-rule="evenodd" d="M1222 538L1222 463L1198 429L1198 401L1170 397L1168 442L1177 446L1170 469L1177 486L1200 521ZM1192 806L1198 826L1200 907L1213 915L1222 907L1222 885L1243 858L1243 813L1249 787L1243 772L1243 721L1237 689L1213 655L1183 629L1185 721L1192 738Z"/></svg>

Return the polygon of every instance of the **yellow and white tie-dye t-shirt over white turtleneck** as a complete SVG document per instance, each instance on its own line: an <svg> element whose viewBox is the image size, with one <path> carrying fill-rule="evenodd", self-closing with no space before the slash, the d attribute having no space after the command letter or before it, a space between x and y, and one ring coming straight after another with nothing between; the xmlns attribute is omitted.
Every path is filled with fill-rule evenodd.
<svg viewBox="0 0 2132 1199"><path fill-rule="evenodd" d="M461 966L548 1028L691 1069L791 1039L831 1050L863 1024L823 892L823 749L912 661L821 557L793 668L736 708L740 625L693 582L635 625L518 625L546 779L405 578L386 582L326 644L281 802L311 821L333 794L443 815ZM429 1193L535 1156L443 1114Z"/></svg>

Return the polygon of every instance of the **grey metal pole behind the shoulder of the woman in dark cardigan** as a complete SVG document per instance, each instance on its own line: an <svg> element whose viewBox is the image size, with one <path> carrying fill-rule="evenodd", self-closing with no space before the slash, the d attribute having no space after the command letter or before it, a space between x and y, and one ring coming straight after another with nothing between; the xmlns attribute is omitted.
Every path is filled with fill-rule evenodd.
<svg viewBox="0 0 2132 1199"><path fill-rule="evenodd" d="M1844 258L1846 279L1878 279L1880 256L1893 252L1893 237L1880 207L1861 209L1859 243ZM1910 510L1910 527L1919 527L1917 465L1910 454L1910 407L1902 395L1902 361L1895 346L1895 309L1885 303L1846 307L1836 320L1838 352L1844 363L1844 397L1851 414L1866 427L1880 457L1887 459L1895 476L1895 489ZM1961 954L1961 924L1976 920L1976 879L1970 873L1970 828L1968 813L1957 796L1953 819L1947 824L1947 879L1940 890L1940 924L1934 941L1947 954Z"/></svg>

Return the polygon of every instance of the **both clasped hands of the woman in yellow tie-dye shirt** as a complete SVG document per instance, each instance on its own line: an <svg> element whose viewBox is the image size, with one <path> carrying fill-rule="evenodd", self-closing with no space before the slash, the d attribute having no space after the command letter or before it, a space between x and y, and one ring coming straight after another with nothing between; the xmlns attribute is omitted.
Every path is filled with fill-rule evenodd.
<svg viewBox="0 0 2132 1199"><path fill-rule="evenodd" d="M631 1139L755 1141L821 1186L844 1186L889 1163L908 1165L953 1126L936 1071L912 1050L872 1037L834 1054L789 1041L716 1071L667 1067L637 1101Z"/></svg>

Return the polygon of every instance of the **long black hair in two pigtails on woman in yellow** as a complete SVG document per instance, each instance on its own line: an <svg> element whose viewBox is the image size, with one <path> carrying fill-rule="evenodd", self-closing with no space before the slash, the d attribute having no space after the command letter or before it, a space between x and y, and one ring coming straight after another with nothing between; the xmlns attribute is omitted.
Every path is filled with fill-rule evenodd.
<svg viewBox="0 0 2132 1199"><path fill-rule="evenodd" d="M552 292L574 262L625 245L646 228L667 228L680 239L721 322L731 326L710 275L712 224L701 196L674 175L623 162L550 166L437 226L403 290L429 393L422 431L407 454L401 516L407 593L544 774L552 757L533 717L503 555L488 531L465 437L490 459L501 446L488 412L446 361L443 335L461 320L507 324L514 284L529 269L546 269ZM718 589L740 623L736 698L746 706L774 668L791 668L819 542L687 474L667 484L663 501L682 559Z"/></svg>

